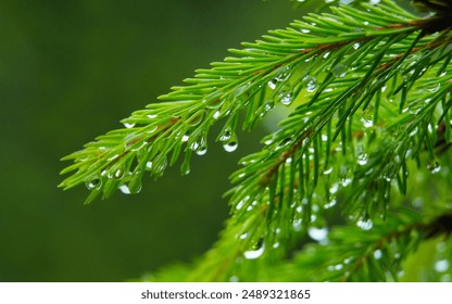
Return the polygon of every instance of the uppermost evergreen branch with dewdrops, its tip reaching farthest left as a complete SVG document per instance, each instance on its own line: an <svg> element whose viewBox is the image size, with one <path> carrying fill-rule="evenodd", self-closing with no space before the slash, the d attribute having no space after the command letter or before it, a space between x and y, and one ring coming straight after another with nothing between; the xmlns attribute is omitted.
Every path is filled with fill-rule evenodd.
<svg viewBox="0 0 452 304"><path fill-rule="evenodd" d="M125 193L138 192L145 172L150 172L155 178L161 176L168 164L176 163L183 151L186 153L181 172L187 174L192 152L201 155L206 152L209 129L223 117L228 119L218 140L227 151L235 150L239 112L248 110L243 128L250 129L273 109L274 100L290 104L303 87L300 79L294 84L290 80L305 66L305 60L319 53L325 55L328 50L344 49L342 46L347 42L378 39L388 31L398 35L418 29L397 14L400 9L390 4L381 8L366 7L371 12L378 12L379 17L374 22L376 25L364 22L363 17L351 21L340 16L360 13L342 7L336 10L338 16L311 15L310 20L317 22L314 27L296 22L292 28L271 31L271 35L264 36L265 40L243 43L247 47L244 50L230 50L241 56L213 63L211 69L199 69L194 78L185 80L188 86L173 87L173 92L160 97L173 102L150 104L146 110L133 113L123 121L126 128L100 136L97 141L86 144L85 150L64 157L75 164L63 173L75 173L60 186L70 189L86 182L91 190L87 202L100 193L108 198L117 188ZM381 27L381 20L389 18L393 24L403 23L404 26L391 28L391 23L388 23L387 27ZM362 33L350 35L359 22L365 23L364 26L361 24ZM310 66L300 75L307 90L316 81L307 76L313 68L312 64ZM274 90L264 89L267 84ZM168 162L170 153L172 157Z"/></svg>

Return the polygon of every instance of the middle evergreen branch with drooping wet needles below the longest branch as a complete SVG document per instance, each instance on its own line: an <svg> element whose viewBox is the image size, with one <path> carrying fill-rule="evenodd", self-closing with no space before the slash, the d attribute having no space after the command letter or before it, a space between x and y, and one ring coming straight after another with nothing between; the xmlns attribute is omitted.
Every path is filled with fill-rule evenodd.
<svg viewBox="0 0 452 304"><path fill-rule="evenodd" d="M261 153L246 157L243 169L231 176L231 181L238 186L228 194L238 218L246 217L249 204L256 202L258 206L268 206L267 220L262 225L279 220L280 208L288 206L303 210L304 226L312 221L315 225L316 220L322 221L318 216L322 210L336 205L337 194L342 192L348 214L355 220L365 220L371 215L378 217L386 212L392 180L397 179L401 192L406 190L406 157L416 159L422 152L412 149L414 141L418 145L424 142L430 142L427 147L432 145L435 140L426 130L434 117L441 113L439 104L450 96L451 74L444 73L441 89L431 86L430 78L451 55L451 50L443 48L450 43L450 37L440 45L436 37L427 39L420 30L417 34L397 33L386 39L369 40L360 46L366 54L360 61L354 61L356 54L353 53L343 52L335 56L350 63L349 69L354 74L351 77L342 75L346 72L343 67L338 68L337 61L312 61L313 65L321 66L315 74L317 78L323 76L322 71L329 71L323 76L317 91L309 97L309 103L300 105L280 124L277 132L264 140L267 147ZM400 49L405 52L401 54ZM328 55L341 51L328 50ZM419 53L426 60L415 61L414 56ZM431 58L438 60L430 61ZM363 61L367 64L362 64ZM354 67L354 62L360 66ZM398 79L400 74L407 75L403 81ZM403 122L398 119L392 125L397 129L393 129L391 119L400 117L393 106L398 102L387 100L399 99L403 107L406 91L398 94L400 87L415 92L409 104L410 109L417 107L411 112L402 109L401 112L409 113L401 115ZM384 100L385 91L387 97ZM419 96L427 102L417 100ZM362 111L361 115L357 110ZM359 124L354 116L357 116ZM387 119L381 121L381 116ZM424 129L418 140L406 137L406 134L415 135L414 126ZM341 141L335 142L339 135ZM342 152L342 155L335 151ZM325 157L321 159L321 154ZM436 161L431 162L435 164ZM435 165L431 166L435 170ZM317 215L313 214L313 208ZM286 220L298 225L300 218ZM262 231L262 238L275 238L271 229Z"/></svg>

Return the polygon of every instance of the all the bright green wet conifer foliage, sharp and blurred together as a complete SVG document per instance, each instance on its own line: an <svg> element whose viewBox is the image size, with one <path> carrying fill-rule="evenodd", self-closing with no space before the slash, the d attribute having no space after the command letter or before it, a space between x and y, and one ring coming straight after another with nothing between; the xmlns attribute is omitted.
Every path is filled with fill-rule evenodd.
<svg viewBox="0 0 452 304"><path fill-rule="evenodd" d="M229 50L235 56L66 156L74 164L63 173L73 174L61 187L86 183L87 203L136 193L146 174L159 178L179 160L188 174L214 124L233 152L240 129L287 107L231 175L217 243L153 278L398 280L420 242L452 231L451 198L437 195L452 185L452 11L450 1L423 2L427 17L392 1L334 5ZM438 176L439 190L425 193Z"/></svg>

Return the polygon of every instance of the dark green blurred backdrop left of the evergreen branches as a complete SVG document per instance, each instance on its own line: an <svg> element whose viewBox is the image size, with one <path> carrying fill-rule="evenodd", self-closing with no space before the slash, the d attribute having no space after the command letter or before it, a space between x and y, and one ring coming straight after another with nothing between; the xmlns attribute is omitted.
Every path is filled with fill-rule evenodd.
<svg viewBox="0 0 452 304"><path fill-rule="evenodd" d="M255 134L89 206L56 188L59 160L298 16L288 0L0 1L0 281L122 281L206 251Z"/></svg>

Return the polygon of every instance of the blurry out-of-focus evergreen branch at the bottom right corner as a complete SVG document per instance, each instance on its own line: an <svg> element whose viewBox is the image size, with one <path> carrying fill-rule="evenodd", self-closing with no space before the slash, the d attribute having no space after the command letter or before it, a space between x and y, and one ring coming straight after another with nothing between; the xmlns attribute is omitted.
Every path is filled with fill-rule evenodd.
<svg viewBox="0 0 452 304"><path fill-rule="evenodd" d="M309 244L293 262L281 266L268 280L280 281L398 281L403 261L419 243L452 232L452 216L425 221L402 211L378 225L337 227L323 244ZM371 229L372 228L372 229ZM273 269L275 270L275 269Z"/></svg>

